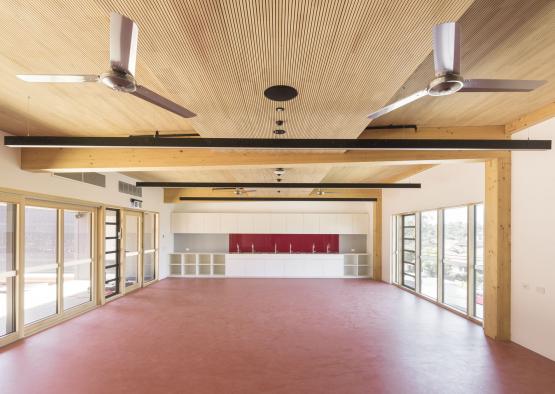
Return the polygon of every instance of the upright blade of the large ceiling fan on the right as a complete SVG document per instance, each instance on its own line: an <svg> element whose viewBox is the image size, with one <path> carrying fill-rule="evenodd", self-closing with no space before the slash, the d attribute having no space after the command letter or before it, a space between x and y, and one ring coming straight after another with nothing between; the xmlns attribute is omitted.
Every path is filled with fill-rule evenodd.
<svg viewBox="0 0 555 394"><path fill-rule="evenodd" d="M433 28L434 66L436 76L460 74L461 72L461 35L456 22L442 23Z"/></svg>

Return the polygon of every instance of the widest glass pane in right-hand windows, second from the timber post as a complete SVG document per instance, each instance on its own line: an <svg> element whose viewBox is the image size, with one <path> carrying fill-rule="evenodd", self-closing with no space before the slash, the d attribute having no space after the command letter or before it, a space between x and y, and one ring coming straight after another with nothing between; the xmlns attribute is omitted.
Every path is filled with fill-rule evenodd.
<svg viewBox="0 0 555 394"><path fill-rule="evenodd" d="M466 311L468 283L467 207L444 211L443 302Z"/></svg>

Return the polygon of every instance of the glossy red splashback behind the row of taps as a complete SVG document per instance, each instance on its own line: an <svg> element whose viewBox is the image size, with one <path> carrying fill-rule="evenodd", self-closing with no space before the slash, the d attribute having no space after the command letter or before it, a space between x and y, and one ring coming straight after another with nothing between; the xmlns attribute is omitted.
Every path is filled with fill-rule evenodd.
<svg viewBox="0 0 555 394"><path fill-rule="evenodd" d="M316 253L326 253L329 244L330 253L339 253L338 234L229 234L231 253L237 252L237 244L243 253L250 252L253 244L256 252L269 253L276 246L278 253L289 253L289 244L295 253L312 253L313 244Z"/></svg>

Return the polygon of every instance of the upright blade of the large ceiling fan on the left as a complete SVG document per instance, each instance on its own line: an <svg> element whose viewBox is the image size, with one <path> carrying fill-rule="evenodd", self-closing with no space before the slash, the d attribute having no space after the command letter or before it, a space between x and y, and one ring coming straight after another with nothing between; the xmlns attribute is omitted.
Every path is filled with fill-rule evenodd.
<svg viewBox="0 0 555 394"><path fill-rule="evenodd" d="M112 70L135 75L139 27L126 16L110 14L110 66Z"/></svg>

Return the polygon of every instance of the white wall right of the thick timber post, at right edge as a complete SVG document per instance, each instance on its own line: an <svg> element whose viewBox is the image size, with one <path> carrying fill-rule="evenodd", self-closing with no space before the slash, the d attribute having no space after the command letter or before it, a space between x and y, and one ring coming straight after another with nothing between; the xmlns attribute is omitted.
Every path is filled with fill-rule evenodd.
<svg viewBox="0 0 555 394"><path fill-rule="evenodd" d="M549 139L555 118L514 139ZM555 360L555 151L512 154L512 340Z"/></svg>

